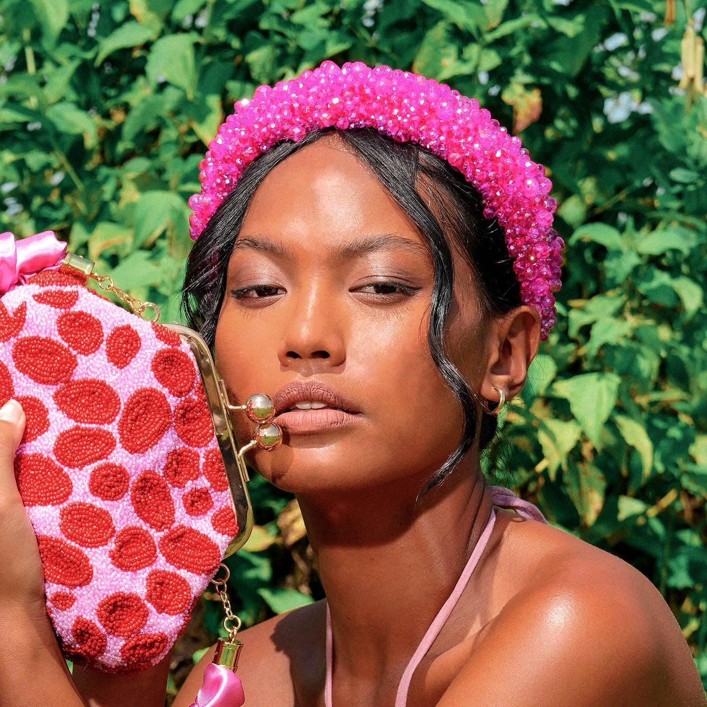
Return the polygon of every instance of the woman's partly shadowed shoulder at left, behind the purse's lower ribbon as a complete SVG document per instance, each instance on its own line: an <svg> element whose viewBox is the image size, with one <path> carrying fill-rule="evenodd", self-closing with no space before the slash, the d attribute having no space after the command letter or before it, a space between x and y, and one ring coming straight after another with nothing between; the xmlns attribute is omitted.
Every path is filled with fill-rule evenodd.
<svg viewBox="0 0 707 707"><path fill-rule="evenodd" d="M238 633L243 641L238 677L250 707L296 706L310 703L308 692L323 685L325 602L316 602L262 621ZM320 655L321 653L321 655ZM189 674L175 707L194 701L211 650Z"/></svg>

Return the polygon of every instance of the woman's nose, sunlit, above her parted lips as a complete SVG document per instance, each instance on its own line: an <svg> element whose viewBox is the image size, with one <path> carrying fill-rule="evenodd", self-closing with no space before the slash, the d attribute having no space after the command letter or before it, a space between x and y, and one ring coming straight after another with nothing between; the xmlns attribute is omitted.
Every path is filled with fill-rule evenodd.
<svg viewBox="0 0 707 707"><path fill-rule="evenodd" d="M331 372L346 361L344 312L323 286L291 293L285 312L281 366L309 376Z"/></svg>

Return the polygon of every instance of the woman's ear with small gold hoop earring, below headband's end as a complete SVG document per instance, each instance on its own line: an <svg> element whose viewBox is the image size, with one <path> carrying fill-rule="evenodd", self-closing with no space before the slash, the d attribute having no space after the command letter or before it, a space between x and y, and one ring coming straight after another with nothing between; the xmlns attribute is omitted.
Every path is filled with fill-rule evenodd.
<svg viewBox="0 0 707 707"><path fill-rule="evenodd" d="M512 398L522 390L540 345L540 315L534 307L518 307L494 320L486 343L486 372L479 395L497 401L496 386Z"/></svg>

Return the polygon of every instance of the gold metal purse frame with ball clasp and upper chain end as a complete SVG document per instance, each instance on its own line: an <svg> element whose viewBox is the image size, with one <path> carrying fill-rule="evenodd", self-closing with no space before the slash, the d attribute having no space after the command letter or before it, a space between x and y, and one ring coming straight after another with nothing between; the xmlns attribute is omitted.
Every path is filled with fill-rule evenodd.
<svg viewBox="0 0 707 707"><path fill-rule="evenodd" d="M156 304L142 302L131 297L115 286L110 276L95 274L93 267L93 261L73 253L67 253L60 270L78 277L83 283L86 283L89 278L94 280L101 289L112 292L123 300L138 317L143 317L144 312L148 309L153 310L154 315L149 321L158 321L160 309ZM147 319L147 317L144 318ZM192 354L194 354L194 358L197 361L201 381L204 383L204 394L209 404L211 420L214 422L214 431L218 441L218 448L221 451L223 465L226 467L230 497L238 525L238 533L230 540L226 549L226 557L228 557L245 545L253 528L253 508L246 487L249 477L244 455L252 448L266 451L276 449L282 441L282 431L272 421L275 415L275 407L267 395L259 393L251 395L244 405L233 405L230 403L226 385L216 371L216 364L211 356L209 345L206 344L200 334L180 324L163 324L162 326L179 334L189 344L189 349L192 350ZM250 442L243 445L240 449L235 442L233 423L230 419L230 414L236 411L244 411L256 425Z"/></svg>

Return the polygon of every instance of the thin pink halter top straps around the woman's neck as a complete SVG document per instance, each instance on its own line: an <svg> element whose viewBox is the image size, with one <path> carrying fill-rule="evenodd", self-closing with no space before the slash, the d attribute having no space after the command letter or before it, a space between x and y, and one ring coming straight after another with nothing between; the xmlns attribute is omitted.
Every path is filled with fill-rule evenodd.
<svg viewBox="0 0 707 707"><path fill-rule="evenodd" d="M533 506L532 503L528 501L523 501L522 498L510 491L510 489L505 489L503 486L491 486L491 501L494 506L499 508L513 508L518 515L522 515L524 518L532 518L532 520L539 520L540 522L547 522L544 515ZM471 578L474 569L479 563L481 554L484 553L486 545L489 543L489 538L491 537L491 532L493 532L493 525L496 523L496 509L494 508L489 517L489 521L486 523L484 532L481 533L479 541L474 547L472 556L469 557L464 570L460 578L457 580L455 588L449 595L449 598L444 602L443 607L439 610L439 613L435 619L430 624L427 632L422 638L420 645L418 645L410 662L407 664L405 671L400 679L400 684L398 685L397 694L395 696L395 707L406 707L407 705L407 693L410 689L410 681L412 676L417 670L417 666L420 665L421 660L430 650L431 645L435 642L435 639L439 635L442 627L444 626L450 614L454 610L454 607L459 601L462 592L469 583L469 578ZM324 704L325 707L332 707L332 666L334 664L334 638L332 635L332 617L329 613L329 604L327 604L327 674L325 678L324 685Z"/></svg>

